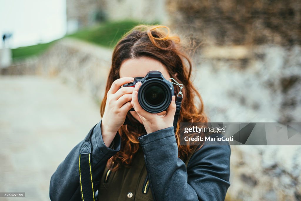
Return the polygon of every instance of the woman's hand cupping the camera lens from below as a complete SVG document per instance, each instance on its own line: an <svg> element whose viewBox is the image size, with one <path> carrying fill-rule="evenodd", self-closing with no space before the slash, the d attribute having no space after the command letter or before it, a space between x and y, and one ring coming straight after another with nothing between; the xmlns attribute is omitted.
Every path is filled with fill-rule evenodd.
<svg viewBox="0 0 301 201"><path fill-rule="evenodd" d="M132 93L132 105L141 118L144 128L147 133L152 133L157 130L173 126L173 119L175 116L175 96L172 96L172 101L167 108L165 115L157 115L156 113L150 113L145 111L138 102L138 90L141 86L141 82L136 83L134 91Z"/></svg>

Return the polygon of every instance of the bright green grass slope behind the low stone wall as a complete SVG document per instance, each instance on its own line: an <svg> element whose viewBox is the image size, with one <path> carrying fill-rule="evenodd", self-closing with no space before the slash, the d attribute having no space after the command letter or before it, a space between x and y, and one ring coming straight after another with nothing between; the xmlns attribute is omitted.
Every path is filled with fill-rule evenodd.
<svg viewBox="0 0 301 201"><path fill-rule="evenodd" d="M130 29L141 24L136 21L126 20L118 22L105 22L98 26L79 30L74 34L65 37L76 38L104 46L113 48L118 40ZM56 41L56 40L55 40ZM55 41L38 44L34 46L20 47L12 49L13 61L24 59L30 56L39 55L49 48Z"/></svg>

